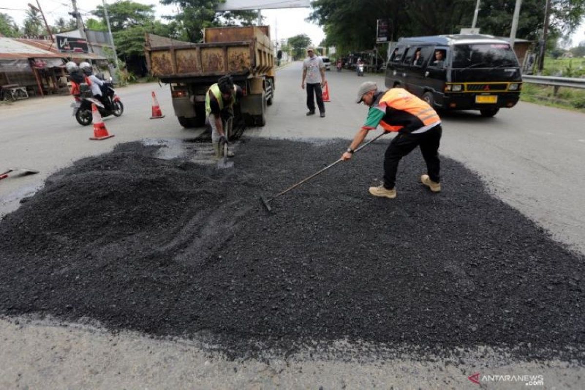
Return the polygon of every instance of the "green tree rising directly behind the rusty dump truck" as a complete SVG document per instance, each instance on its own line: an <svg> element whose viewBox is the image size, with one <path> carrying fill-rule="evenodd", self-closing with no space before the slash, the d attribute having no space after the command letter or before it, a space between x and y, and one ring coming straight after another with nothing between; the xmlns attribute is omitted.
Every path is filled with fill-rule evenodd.
<svg viewBox="0 0 585 390"><path fill-rule="evenodd" d="M201 42L205 27L254 25L257 19L255 11L216 12L215 9L225 0L160 0L161 4L175 4L181 10L177 15L166 16L176 20L183 27L183 39Z"/></svg>

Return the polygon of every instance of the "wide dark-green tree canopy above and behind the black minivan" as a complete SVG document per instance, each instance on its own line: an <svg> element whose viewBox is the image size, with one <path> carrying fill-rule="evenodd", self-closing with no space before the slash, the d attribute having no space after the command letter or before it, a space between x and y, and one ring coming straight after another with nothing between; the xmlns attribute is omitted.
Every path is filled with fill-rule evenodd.
<svg viewBox="0 0 585 390"><path fill-rule="evenodd" d="M477 18L482 33L510 36L515 0L481 0ZM321 26L338 52L371 49L376 44L376 20L390 20L393 40L403 36L459 33L472 25L474 0L316 0L309 20ZM538 39L545 0L524 0L517 37ZM573 32L585 15L585 0L552 0L550 40ZM359 23L356 23L359 20Z"/></svg>

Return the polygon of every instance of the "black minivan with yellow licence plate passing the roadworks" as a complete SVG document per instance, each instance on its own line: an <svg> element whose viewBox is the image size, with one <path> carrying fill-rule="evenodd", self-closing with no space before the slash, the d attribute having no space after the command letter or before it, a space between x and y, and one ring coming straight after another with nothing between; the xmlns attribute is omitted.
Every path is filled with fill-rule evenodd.
<svg viewBox="0 0 585 390"><path fill-rule="evenodd" d="M490 35L401 38L388 60L386 87L402 87L435 108L494 116L520 98L522 77L510 43Z"/></svg>

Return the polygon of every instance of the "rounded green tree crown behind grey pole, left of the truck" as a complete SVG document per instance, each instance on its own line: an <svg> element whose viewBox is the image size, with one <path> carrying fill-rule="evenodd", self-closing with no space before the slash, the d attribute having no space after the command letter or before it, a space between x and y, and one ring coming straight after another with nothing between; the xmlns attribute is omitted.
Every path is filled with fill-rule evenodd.
<svg viewBox="0 0 585 390"><path fill-rule="evenodd" d="M98 5L92 12L106 25L104 7ZM108 5L108 16L112 32L132 26L141 26L154 21L154 5L144 5L129 0L118 0Z"/></svg>

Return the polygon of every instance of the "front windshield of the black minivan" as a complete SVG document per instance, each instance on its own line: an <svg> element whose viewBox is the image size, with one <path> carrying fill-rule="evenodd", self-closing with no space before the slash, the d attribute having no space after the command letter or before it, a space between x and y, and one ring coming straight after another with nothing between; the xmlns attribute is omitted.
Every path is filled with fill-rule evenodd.
<svg viewBox="0 0 585 390"><path fill-rule="evenodd" d="M518 60L509 44L456 44L453 50L453 68L518 67Z"/></svg>

